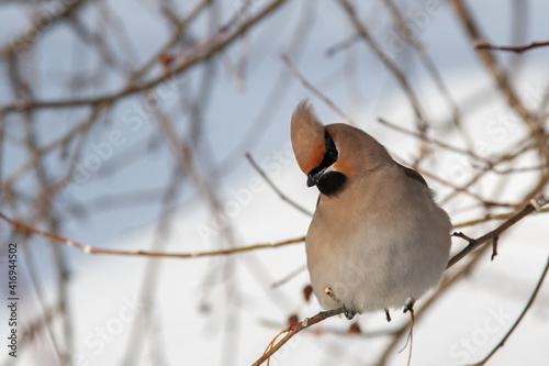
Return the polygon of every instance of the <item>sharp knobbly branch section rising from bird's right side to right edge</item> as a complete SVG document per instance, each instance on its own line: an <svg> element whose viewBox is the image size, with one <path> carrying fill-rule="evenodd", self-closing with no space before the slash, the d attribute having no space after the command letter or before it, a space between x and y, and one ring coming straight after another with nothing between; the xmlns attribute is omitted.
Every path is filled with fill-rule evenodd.
<svg viewBox="0 0 549 366"><path fill-rule="evenodd" d="M486 233L486 234L484 234L484 235L482 235L481 237L478 237L478 239L470 239L470 237L468 237L467 235L464 235L462 233L455 233L453 236L459 236L461 239L467 240L469 242L469 245L466 246L461 252L459 252L458 254L456 254L450 259L450 262L448 263L448 267L447 268L450 268L456 263L458 263L459 260L461 260L466 255L468 255L472 251L477 249L479 246L481 246L481 245L483 245L485 243L489 243L489 242L492 242L494 244L494 255L495 255L495 245L497 243L497 239L500 237L500 235L504 231L506 231L507 229L509 229L511 226L513 226L514 224L516 224L518 221L523 220L525 217L527 217L528 214L530 214L531 212L534 212L534 211L541 211L541 208L544 206L546 206L548 202L549 202L549 199L547 199L545 197L539 198L537 200L533 199L530 201L530 203L526 204L520 211L518 211L517 213L515 213L513 217L511 217L507 221L505 221L498 228L494 229L490 233Z"/></svg>

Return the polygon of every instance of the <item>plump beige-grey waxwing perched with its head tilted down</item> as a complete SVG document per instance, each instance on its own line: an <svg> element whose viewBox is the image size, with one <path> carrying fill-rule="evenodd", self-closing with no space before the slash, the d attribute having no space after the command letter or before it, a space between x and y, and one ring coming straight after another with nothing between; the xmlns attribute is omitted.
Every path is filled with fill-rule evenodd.
<svg viewBox="0 0 549 366"><path fill-rule="evenodd" d="M440 282L451 246L450 218L425 179L362 130L323 125L306 99L293 111L290 135L307 187L320 191L305 236L320 306L343 308L349 320L412 313Z"/></svg>

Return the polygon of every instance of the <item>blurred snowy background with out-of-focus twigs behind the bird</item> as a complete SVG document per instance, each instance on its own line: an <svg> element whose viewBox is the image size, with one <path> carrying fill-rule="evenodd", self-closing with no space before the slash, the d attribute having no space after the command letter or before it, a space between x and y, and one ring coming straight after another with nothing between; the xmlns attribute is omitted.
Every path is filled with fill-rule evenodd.
<svg viewBox="0 0 549 366"><path fill-rule="evenodd" d="M497 228L548 193L549 47L474 47L547 42L548 13L542 0L0 1L0 212L89 245L0 221L2 299L15 242L20 298L18 357L2 344L0 362L249 365L292 315L318 312L299 242L317 191L289 136L303 98L421 171L456 231ZM497 345L547 263L545 212L417 302L412 364ZM548 309L546 284L488 364L547 365ZM352 322L300 333L271 364L406 363L407 314Z"/></svg>

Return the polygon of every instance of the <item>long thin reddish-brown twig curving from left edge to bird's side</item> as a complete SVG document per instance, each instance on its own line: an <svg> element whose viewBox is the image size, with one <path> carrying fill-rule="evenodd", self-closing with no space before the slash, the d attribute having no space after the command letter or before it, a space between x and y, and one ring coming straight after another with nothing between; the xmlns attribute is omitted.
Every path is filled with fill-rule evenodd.
<svg viewBox="0 0 549 366"><path fill-rule="evenodd" d="M265 249L265 248L274 248L279 246L284 246L289 244L302 243L305 241L305 237L296 237L290 239L288 241L271 243L271 244L256 244L250 246L235 247L232 249L223 249L223 251L211 251L211 252L193 252L193 253L160 253L160 252L144 252L144 251L113 251L113 249L104 249L99 247L93 247L88 244L81 244L78 242L74 242L71 240L65 239L63 236L58 236L55 234L46 233L44 231L27 226L25 224L19 223L7 218L3 213L0 212L0 219L9 223L15 230L21 230L26 233L32 233L35 235L44 236L49 240L53 240L57 243L61 243L71 247L76 247L77 249L82 251L86 254L108 254L108 255L121 255L121 256L142 256L142 257L157 257L157 258L195 258L195 257L208 257L215 255L228 255L240 252L249 252L255 249Z"/></svg>

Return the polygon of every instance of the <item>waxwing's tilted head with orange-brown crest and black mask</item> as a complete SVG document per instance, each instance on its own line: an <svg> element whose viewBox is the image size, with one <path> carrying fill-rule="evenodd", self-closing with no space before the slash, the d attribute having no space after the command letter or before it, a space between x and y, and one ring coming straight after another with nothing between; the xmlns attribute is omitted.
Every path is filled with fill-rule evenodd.
<svg viewBox="0 0 549 366"><path fill-rule="evenodd" d="M290 134L307 186L316 186L325 196L339 193L349 179L392 162L383 145L366 132L343 123L324 126L307 100L295 108Z"/></svg>

